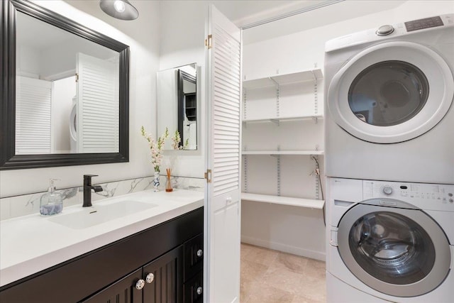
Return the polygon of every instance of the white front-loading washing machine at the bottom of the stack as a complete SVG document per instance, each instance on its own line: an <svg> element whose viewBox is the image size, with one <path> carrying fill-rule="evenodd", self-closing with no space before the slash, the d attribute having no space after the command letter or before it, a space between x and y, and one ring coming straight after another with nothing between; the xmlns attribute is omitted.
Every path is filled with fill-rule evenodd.
<svg viewBox="0 0 454 303"><path fill-rule="evenodd" d="M454 302L454 185L328 178L327 302Z"/></svg>

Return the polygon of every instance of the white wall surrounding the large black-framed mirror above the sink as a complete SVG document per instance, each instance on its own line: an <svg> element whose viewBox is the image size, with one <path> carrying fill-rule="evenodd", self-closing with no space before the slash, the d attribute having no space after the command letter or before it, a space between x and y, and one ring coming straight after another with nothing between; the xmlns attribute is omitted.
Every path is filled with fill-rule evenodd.
<svg viewBox="0 0 454 303"><path fill-rule="evenodd" d="M99 1L33 1L89 28L130 46L129 162L0 171L0 197L44 191L48 179L61 179L60 188L82 185L82 175L95 174L95 183L153 175L148 144L140 126L155 133L156 72L159 68L160 5L157 1L135 1L140 17L121 21L99 9ZM109 25L109 23L111 25ZM114 27L115 26L115 27Z"/></svg>

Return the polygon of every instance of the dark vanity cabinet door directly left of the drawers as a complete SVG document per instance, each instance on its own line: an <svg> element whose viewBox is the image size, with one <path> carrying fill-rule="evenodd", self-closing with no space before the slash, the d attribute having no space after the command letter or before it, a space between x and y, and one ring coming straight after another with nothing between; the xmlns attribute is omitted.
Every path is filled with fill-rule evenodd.
<svg viewBox="0 0 454 303"><path fill-rule="evenodd" d="M183 259L179 246L143 267L143 303L183 301Z"/></svg>

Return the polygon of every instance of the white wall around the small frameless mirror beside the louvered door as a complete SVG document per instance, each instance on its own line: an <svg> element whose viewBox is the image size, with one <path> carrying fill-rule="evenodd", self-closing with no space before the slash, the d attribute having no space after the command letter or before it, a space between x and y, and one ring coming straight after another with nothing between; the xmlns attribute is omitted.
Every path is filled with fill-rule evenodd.
<svg viewBox="0 0 454 303"><path fill-rule="evenodd" d="M209 1L162 1L160 70L196 63L197 97L197 150L166 151L163 165L173 162L173 172L185 177L204 177L206 153L206 63L205 21ZM175 155L177 153L177 159Z"/></svg>

